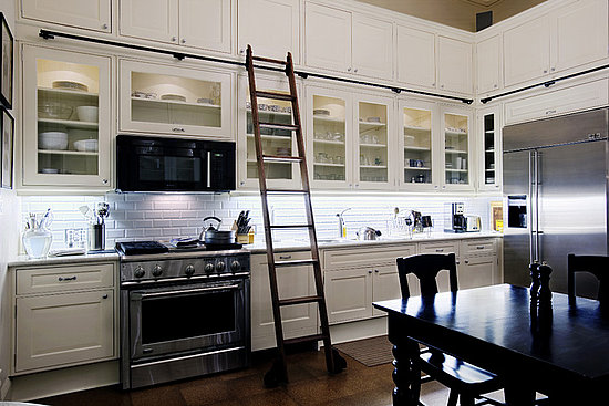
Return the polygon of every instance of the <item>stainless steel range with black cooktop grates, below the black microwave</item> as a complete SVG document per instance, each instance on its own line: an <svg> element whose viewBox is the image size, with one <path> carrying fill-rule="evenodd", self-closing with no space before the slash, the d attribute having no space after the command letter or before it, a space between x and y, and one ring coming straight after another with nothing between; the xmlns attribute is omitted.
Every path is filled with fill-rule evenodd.
<svg viewBox="0 0 609 406"><path fill-rule="evenodd" d="M249 364L247 250L178 250L154 241L117 249L123 388Z"/></svg>

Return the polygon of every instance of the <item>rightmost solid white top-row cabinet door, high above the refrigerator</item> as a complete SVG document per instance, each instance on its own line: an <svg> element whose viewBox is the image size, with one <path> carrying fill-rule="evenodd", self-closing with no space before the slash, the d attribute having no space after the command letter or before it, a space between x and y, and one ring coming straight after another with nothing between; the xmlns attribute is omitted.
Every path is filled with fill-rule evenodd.
<svg viewBox="0 0 609 406"><path fill-rule="evenodd" d="M608 55L607 0L578 1L553 17L550 72Z"/></svg>

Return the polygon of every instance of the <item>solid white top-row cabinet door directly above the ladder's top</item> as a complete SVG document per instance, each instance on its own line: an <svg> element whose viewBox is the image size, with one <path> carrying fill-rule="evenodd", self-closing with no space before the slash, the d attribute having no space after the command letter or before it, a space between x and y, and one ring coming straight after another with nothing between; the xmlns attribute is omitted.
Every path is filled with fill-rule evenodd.
<svg viewBox="0 0 609 406"><path fill-rule="evenodd" d="M238 20L240 55L250 44L257 55L285 60L289 51L300 63L299 0L240 0Z"/></svg>

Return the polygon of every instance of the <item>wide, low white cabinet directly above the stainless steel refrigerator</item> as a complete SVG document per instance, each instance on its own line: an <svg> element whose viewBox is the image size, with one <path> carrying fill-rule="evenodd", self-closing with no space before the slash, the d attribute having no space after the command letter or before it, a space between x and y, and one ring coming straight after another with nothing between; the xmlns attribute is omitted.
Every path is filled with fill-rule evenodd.
<svg viewBox="0 0 609 406"><path fill-rule="evenodd" d="M551 87L550 87L551 89ZM553 117L605 106L609 103L609 80L601 79L549 90L543 94L505 103L505 124Z"/></svg>

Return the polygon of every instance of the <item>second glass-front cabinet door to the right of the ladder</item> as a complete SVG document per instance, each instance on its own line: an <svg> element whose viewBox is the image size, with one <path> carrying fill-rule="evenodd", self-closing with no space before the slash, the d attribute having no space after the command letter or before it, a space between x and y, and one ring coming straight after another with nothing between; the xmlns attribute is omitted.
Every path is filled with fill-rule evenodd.
<svg viewBox="0 0 609 406"><path fill-rule="evenodd" d="M365 189L388 188L393 185L390 165L394 149L393 100L378 96L355 95L358 133L354 139L355 187Z"/></svg>

